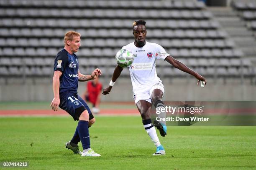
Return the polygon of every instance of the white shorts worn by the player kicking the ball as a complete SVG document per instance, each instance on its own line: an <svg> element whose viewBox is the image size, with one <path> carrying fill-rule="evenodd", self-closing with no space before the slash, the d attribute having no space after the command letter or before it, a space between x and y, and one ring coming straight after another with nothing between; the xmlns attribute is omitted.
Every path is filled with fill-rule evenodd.
<svg viewBox="0 0 256 170"><path fill-rule="evenodd" d="M151 103L151 95L153 90L160 89L163 92L164 96L164 85L157 81L153 84L146 85L143 90L136 90L133 94L133 100L135 101L135 104L137 104L140 100L146 100L147 102Z"/></svg>

